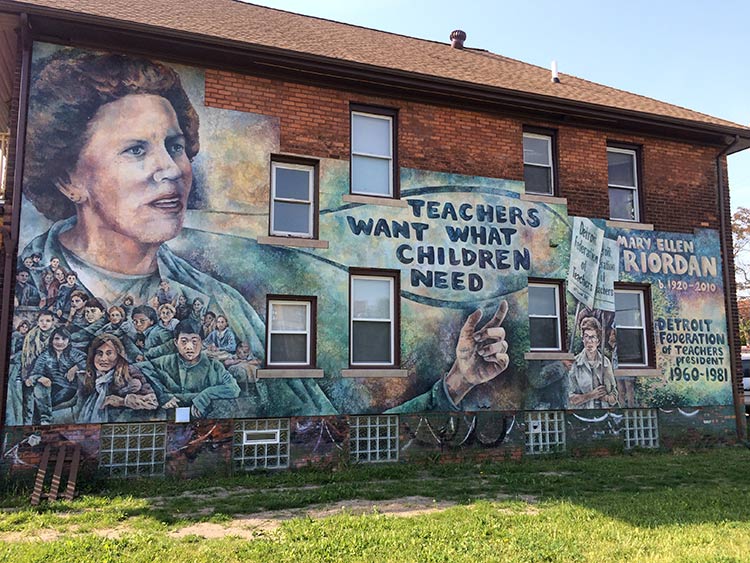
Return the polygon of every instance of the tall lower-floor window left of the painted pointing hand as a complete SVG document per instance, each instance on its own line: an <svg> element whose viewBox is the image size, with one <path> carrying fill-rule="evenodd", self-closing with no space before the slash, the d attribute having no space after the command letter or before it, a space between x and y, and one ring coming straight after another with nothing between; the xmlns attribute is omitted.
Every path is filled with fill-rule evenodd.
<svg viewBox="0 0 750 563"><path fill-rule="evenodd" d="M398 329L395 296L397 273L351 277L351 364L396 365Z"/></svg>

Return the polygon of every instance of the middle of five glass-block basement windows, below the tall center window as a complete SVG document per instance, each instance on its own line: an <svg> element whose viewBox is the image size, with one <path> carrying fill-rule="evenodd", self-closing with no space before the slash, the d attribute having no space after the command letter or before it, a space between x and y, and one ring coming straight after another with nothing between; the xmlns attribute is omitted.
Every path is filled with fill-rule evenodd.
<svg viewBox="0 0 750 563"><path fill-rule="evenodd" d="M398 461L398 416L353 416L349 421L352 461Z"/></svg>

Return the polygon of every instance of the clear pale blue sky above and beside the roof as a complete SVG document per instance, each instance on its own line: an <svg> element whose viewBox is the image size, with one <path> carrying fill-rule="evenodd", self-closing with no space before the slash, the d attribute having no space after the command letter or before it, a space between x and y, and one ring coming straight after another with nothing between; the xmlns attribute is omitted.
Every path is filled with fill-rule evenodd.
<svg viewBox="0 0 750 563"><path fill-rule="evenodd" d="M747 0L252 3L445 43L462 29L467 47L750 125ZM728 163L732 208L750 207L750 149Z"/></svg>

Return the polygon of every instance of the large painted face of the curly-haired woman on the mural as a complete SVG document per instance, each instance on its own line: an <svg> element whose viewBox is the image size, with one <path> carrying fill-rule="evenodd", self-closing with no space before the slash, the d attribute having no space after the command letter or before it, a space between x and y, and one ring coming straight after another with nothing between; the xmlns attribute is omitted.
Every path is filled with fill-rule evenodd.
<svg viewBox="0 0 750 563"><path fill-rule="evenodd" d="M68 190L107 236L160 244L182 228L193 180L185 137L165 98L131 94L99 108ZM116 237L113 236L113 240Z"/></svg>

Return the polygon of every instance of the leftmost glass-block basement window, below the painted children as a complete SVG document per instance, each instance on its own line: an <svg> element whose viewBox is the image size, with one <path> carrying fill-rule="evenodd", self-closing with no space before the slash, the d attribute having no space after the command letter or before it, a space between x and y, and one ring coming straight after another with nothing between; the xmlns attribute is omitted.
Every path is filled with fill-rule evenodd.
<svg viewBox="0 0 750 563"><path fill-rule="evenodd" d="M165 423L105 424L99 434L99 467L110 477L164 475Z"/></svg>

